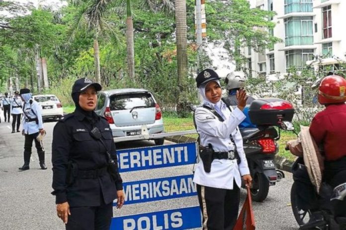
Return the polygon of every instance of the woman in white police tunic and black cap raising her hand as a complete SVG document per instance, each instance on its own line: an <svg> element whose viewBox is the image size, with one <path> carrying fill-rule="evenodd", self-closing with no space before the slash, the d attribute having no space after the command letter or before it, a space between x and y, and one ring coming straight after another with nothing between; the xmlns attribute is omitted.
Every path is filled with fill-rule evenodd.
<svg viewBox="0 0 346 230"><path fill-rule="evenodd" d="M203 165L201 157L193 177L203 215L203 230L233 230L239 210L241 176L247 186L251 186L252 181L243 139L237 128L245 119L242 110L246 106L246 92L237 92L238 107L231 112L221 100L219 79L212 69L203 70L196 78L204 99L203 107L195 111L196 129L200 145L213 150L209 170L205 169L208 167ZM240 157L239 165L231 136Z"/></svg>

